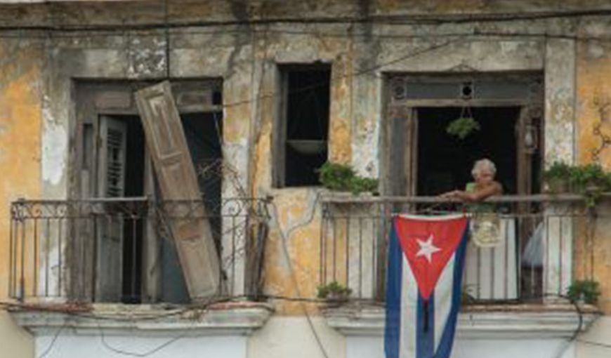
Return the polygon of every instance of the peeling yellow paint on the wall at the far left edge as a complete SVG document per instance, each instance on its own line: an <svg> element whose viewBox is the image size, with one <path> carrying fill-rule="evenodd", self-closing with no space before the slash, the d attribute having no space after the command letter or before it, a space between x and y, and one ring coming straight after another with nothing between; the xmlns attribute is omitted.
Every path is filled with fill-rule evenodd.
<svg viewBox="0 0 611 358"><path fill-rule="evenodd" d="M8 51L0 44L0 58ZM11 201L20 197L40 197L41 53L36 48L22 48L11 54L13 60L0 63L0 262L8 263L8 240ZM32 265L26 265L27 277ZM8 265L0 267L0 299L8 296Z"/></svg>

